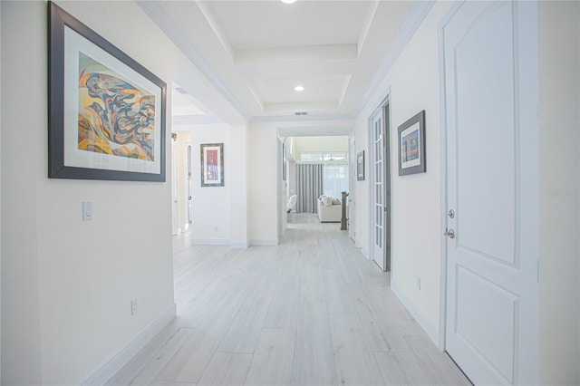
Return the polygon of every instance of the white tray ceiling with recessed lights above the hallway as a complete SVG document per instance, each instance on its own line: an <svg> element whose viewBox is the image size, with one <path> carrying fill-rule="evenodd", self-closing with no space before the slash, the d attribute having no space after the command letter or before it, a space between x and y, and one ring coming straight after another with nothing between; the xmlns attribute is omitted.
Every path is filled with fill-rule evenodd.
<svg viewBox="0 0 580 386"><path fill-rule="evenodd" d="M411 1L364 0L139 4L248 121L289 121L288 128L309 126L316 135L350 131L413 7ZM298 84L304 92L294 91ZM203 104L203 95L188 92ZM188 116L199 120L195 113L181 118ZM341 123L315 129L313 121Z"/></svg>

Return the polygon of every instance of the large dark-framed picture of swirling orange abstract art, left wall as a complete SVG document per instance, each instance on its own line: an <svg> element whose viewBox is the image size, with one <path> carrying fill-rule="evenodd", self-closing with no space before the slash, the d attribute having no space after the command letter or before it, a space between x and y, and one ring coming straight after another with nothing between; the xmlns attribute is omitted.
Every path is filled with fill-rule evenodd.
<svg viewBox="0 0 580 386"><path fill-rule="evenodd" d="M166 83L53 2L48 53L48 177L165 182Z"/></svg>

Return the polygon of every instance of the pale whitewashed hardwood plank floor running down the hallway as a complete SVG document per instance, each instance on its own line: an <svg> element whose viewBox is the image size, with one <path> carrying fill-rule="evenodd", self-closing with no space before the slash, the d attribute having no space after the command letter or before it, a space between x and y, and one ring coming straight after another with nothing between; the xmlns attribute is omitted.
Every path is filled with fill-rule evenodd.
<svg viewBox="0 0 580 386"><path fill-rule="evenodd" d="M108 384L469 385L339 229L298 214L245 250L176 236L178 316Z"/></svg>

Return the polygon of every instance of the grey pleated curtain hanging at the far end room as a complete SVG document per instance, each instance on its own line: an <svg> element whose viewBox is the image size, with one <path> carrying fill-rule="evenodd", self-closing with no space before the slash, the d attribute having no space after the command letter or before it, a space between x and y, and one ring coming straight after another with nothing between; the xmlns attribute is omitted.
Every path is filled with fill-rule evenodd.
<svg viewBox="0 0 580 386"><path fill-rule="evenodd" d="M297 213L316 213L316 200L323 194L323 166L319 164L296 165Z"/></svg>

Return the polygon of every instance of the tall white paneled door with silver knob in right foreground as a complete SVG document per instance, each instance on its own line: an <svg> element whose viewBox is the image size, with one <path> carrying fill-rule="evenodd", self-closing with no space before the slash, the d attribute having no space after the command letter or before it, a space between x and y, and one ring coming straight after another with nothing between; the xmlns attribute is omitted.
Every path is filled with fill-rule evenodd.
<svg viewBox="0 0 580 386"><path fill-rule="evenodd" d="M441 24L446 350L474 384L538 382L536 5L465 2Z"/></svg>

